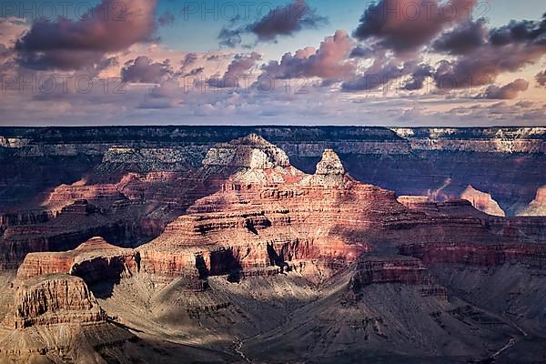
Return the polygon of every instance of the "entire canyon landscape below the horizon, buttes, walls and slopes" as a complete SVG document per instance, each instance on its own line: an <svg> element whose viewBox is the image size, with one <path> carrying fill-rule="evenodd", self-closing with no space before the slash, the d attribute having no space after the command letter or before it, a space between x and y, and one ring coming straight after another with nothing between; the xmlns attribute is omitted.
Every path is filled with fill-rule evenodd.
<svg viewBox="0 0 546 364"><path fill-rule="evenodd" d="M0 363L546 360L546 128L0 128Z"/></svg>

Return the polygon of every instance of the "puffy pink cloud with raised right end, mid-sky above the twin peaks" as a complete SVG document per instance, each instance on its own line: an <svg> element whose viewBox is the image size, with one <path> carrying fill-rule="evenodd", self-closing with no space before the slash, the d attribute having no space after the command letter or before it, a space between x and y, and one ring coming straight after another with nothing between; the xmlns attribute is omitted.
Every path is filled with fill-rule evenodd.
<svg viewBox="0 0 546 364"><path fill-rule="evenodd" d="M287 53L280 62L271 61L263 66L264 74L274 78L320 77L339 78L349 76L355 64L348 60L354 42L344 30L327 36L319 49L308 46Z"/></svg>

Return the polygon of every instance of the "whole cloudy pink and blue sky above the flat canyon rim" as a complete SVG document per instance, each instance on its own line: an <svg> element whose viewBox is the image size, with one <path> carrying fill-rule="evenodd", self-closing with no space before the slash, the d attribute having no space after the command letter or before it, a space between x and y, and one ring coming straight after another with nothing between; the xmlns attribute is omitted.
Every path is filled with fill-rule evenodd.
<svg viewBox="0 0 546 364"><path fill-rule="evenodd" d="M2 1L0 87L0 126L546 126L546 5Z"/></svg>

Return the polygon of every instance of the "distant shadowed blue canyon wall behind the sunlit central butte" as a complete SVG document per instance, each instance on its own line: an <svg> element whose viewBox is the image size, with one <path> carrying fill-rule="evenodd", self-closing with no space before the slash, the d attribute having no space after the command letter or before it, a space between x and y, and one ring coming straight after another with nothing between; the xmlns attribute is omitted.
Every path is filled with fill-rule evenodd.
<svg viewBox="0 0 546 364"><path fill-rule="evenodd" d="M489 193L507 215L525 210L546 184L543 127L0 127L0 160L9 161L0 169L6 192L0 207L35 207L36 193L94 170L114 177L120 169L190 171L210 147L251 133L285 150L304 172L314 172L323 150L332 148L359 180L436 199L459 197L471 185Z"/></svg>

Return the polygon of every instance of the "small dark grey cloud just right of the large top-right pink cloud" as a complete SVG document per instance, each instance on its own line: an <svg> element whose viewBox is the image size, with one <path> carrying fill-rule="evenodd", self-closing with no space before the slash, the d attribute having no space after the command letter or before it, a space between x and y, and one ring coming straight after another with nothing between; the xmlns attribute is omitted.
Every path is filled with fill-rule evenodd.
<svg viewBox="0 0 546 364"><path fill-rule="evenodd" d="M485 20L469 20L443 33L432 43L432 50L450 55L466 55L484 45L488 35Z"/></svg>

